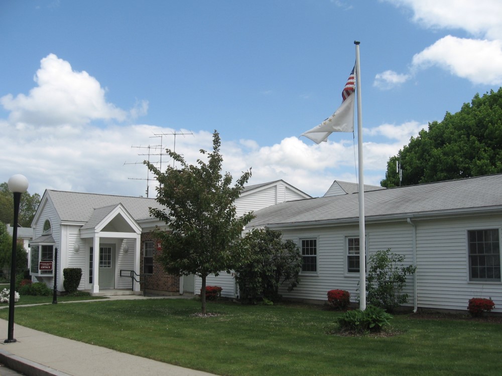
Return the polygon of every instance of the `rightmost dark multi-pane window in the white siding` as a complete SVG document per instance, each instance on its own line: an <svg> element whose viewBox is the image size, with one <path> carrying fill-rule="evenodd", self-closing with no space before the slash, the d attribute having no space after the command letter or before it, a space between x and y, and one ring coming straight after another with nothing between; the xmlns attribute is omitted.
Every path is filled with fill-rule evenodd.
<svg viewBox="0 0 502 376"><path fill-rule="evenodd" d="M500 241L498 229L467 232L469 242L469 279L500 281Z"/></svg>

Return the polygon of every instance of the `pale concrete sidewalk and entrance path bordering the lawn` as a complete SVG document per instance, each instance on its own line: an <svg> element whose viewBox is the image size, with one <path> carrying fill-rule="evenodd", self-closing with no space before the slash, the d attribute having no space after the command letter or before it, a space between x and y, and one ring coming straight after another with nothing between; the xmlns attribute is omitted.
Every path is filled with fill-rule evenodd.
<svg viewBox="0 0 502 376"><path fill-rule="evenodd" d="M159 297L160 299L175 297ZM181 297L176 297L181 298ZM113 296L90 300L89 304L123 299L155 299L138 295ZM58 304L70 304L58 303ZM16 309L23 309L16 306ZM15 316L16 317L16 316ZM0 320L0 333L7 337L8 321ZM17 342L0 342L0 363L27 376L210 376L211 373L183 368L156 360L130 355L109 348L74 341L14 323Z"/></svg>

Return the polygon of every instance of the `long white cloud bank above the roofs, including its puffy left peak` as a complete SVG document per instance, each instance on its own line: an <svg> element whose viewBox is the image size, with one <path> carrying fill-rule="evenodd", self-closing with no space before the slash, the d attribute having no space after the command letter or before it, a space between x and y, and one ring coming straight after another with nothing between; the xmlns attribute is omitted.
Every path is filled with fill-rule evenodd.
<svg viewBox="0 0 502 376"><path fill-rule="evenodd" d="M43 59L36 82L38 86L28 96L2 98L10 116L0 119L0 181L23 173L30 181L31 194L56 189L144 196L149 179L152 197L154 176L142 162L149 159L161 167L160 147L149 153L149 144L160 144L160 140L152 139L154 135L164 134L165 149L174 147L176 133L175 151L190 164L204 158L200 149L212 149L212 133L207 131L192 133L148 124L95 125L93 119L128 120L126 111L105 101L96 79L85 72L73 72L69 63L55 55ZM148 102L138 101L131 114L139 115L147 109ZM45 121L33 120L39 118ZM415 122L365 129L365 182L378 184L389 157L419 129L421 125ZM220 136L223 170L238 178L252 167L249 184L284 179L307 194L322 196L335 179L357 180L357 146L351 133L336 133L320 145L288 137L264 146L251 139ZM162 156L162 169L172 163L167 154Z"/></svg>

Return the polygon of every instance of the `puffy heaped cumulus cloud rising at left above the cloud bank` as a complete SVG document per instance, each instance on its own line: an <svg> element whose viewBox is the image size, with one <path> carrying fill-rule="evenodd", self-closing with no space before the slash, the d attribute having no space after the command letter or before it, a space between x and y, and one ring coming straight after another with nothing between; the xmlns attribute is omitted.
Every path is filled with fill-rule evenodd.
<svg viewBox="0 0 502 376"><path fill-rule="evenodd" d="M70 63L50 54L41 60L28 95L8 94L0 103L9 121L20 126L84 125L91 120L126 119L127 112L105 100L105 90L87 72L75 72Z"/></svg>

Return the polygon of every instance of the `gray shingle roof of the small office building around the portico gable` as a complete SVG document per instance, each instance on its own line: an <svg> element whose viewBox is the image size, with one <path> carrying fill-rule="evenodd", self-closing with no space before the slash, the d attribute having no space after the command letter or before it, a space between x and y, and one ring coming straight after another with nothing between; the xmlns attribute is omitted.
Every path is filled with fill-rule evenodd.
<svg viewBox="0 0 502 376"><path fill-rule="evenodd" d="M94 209L122 204L136 221L151 219L149 207L162 209L155 199L129 196L98 195L47 190L61 221L87 222ZM106 210L106 209L105 209Z"/></svg>

